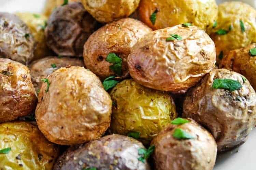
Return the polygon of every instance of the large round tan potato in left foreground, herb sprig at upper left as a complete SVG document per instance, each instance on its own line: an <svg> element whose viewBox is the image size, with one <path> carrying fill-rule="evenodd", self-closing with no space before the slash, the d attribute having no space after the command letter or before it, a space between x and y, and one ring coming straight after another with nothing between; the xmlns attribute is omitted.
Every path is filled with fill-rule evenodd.
<svg viewBox="0 0 256 170"><path fill-rule="evenodd" d="M101 81L83 67L60 68L39 92L36 120L45 137L59 145L100 138L109 128L112 101Z"/></svg>

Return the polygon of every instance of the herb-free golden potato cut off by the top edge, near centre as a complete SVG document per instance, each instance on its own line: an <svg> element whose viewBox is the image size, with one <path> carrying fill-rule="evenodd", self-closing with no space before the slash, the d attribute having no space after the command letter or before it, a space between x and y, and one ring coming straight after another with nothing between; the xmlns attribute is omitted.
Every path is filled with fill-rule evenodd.
<svg viewBox="0 0 256 170"><path fill-rule="evenodd" d="M97 21L108 23L126 18L139 6L140 0L81 0Z"/></svg>

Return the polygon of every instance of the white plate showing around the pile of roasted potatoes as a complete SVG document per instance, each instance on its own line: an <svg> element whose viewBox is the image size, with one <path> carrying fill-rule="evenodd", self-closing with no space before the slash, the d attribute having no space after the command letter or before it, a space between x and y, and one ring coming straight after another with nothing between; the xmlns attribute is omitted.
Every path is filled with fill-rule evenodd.
<svg viewBox="0 0 256 170"><path fill-rule="evenodd" d="M221 1L217 0L217 2ZM256 6L254 0L243 1ZM43 10L44 3L45 0L0 0L0 11L40 13ZM241 147L218 155L214 170L256 170L255 157L256 130L250 134L248 141Z"/></svg>

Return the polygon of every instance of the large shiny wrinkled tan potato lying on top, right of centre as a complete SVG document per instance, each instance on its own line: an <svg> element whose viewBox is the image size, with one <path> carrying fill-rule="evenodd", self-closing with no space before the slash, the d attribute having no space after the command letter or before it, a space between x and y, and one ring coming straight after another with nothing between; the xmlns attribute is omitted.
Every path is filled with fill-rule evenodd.
<svg viewBox="0 0 256 170"><path fill-rule="evenodd" d="M167 42L170 34L178 34L182 40ZM195 26L178 25L148 33L128 56L130 75L137 83L173 92L194 86L214 64L214 43Z"/></svg>

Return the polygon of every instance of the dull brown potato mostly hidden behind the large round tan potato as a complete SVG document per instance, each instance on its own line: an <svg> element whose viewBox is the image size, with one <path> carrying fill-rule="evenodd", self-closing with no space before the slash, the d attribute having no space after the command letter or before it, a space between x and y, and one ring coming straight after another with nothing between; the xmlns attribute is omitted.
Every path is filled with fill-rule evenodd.
<svg viewBox="0 0 256 170"><path fill-rule="evenodd" d="M56 68L52 67L52 64L56 65ZM38 91L43 84L41 79L47 78L49 74L58 70L61 67L67 66L84 66L84 62L78 58L70 57L45 57L40 60L34 61L29 65L31 80L34 85L35 91Z"/></svg>

